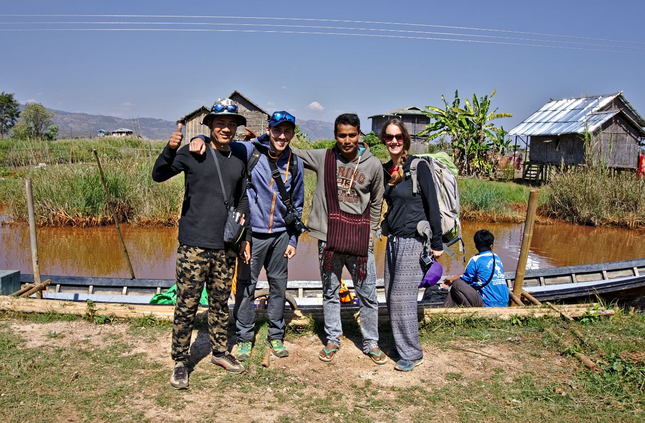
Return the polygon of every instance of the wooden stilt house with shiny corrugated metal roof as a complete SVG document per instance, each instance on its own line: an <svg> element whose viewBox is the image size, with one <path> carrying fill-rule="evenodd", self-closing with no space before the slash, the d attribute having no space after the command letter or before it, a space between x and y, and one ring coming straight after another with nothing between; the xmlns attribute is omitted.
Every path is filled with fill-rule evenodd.
<svg viewBox="0 0 645 423"><path fill-rule="evenodd" d="M551 167L603 163L611 169L638 167L645 119L621 92L551 99L508 132L528 147L522 178L548 180Z"/></svg>

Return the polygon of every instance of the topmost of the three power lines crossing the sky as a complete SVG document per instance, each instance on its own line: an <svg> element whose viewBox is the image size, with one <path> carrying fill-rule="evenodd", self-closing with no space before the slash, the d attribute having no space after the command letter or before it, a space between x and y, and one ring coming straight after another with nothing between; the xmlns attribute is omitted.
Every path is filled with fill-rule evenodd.
<svg viewBox="0 0 645 423"><path fill-rule="evenodd" d="M564 37L576 39L588 39L593 41L610 41L613 43L635 43L644 44L642 41L624 41L617 39L606 39L597 37L582 37L582 36L567 36L562 34L546 34L543 32L526 32L526 31L513 31L494 28L473 28L470 26L450 26L450 25L432 25L423 23L405 23L405 22L381 22L381 21L352 21L344 19L314 19L304 17L262 17L262 16L199 16L199 15L96 15L96 14L0 14L0 16L39 16L39 17L173 17L173 18L199 18L199 19L264 19L264 20L277 20L277 21L315 21L315 22L340 22L340 23L369 23L375 25L404 25L404 26L424 26L430 28L449 28L473 31L489 31L489 32L506 32L510 34L524 34L531 36L547 36L547 37Z"/></svg>

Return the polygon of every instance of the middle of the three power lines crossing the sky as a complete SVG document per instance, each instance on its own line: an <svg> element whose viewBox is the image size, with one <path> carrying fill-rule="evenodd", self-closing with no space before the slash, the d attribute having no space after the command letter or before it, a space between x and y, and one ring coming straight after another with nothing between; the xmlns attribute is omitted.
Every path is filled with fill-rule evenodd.
<svg viewBox="0 0 645 423"><path fill-rule="evenodd" d="M101 21L66 21L66 22L0 22L0 25L218 25L218 26L268 26L271 28L315 28L315 29L339 29L339 30L360 30L360 31L381 31L381 32L401 32L405 34L431 34L440 36L461 36L461 37L478 37L478 38L495 38L510 39L517 41L535 41L540 43L559 43L571 45L586 45L610 48L629 48L631 50L645 50L645 47L635 46L617 46L597 43L580 43L577 41L559 41L549 39L535 39L522 37L502 37L502 36L482 36L478 34L460 34L455 32L432 32L432 31L410 31L395 30L384 28L355 28L346 26L318 26L318 25L280 25L280 24L255 24L255 23L200 23L200 22L101 22ZM67 28L60 28L67 29ZM80 29L80 28L72 28Z"/></svg>

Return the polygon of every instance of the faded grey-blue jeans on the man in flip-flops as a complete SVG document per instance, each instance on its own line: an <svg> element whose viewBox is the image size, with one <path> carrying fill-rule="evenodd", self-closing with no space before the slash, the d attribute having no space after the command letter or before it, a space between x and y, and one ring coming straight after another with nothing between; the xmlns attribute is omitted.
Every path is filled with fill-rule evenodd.
<svg viewBox="0 0 645 423"><path fill-rule="evenodd" d="M318 242L318 260L321 262L321 279L323 280L323 314L324 331L327 342L336 347L341 346L341 274L345 266L352 275L354 291L359 299L359 316L361 316L361 334L363 337L363 353L379 346L379 304L376 301L376 265L374 263L373 247L367 255L367 277L359 280L356 276L356 256L333 254L332 271L323 271L322 258L325 242Z"/></svg>

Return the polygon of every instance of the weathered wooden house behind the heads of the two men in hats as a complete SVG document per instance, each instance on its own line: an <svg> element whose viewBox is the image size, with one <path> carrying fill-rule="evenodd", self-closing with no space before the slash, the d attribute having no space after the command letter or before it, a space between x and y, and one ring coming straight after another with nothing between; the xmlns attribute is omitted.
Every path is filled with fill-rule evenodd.
<svg viewBox="0 0 645 423"><path fill-rule="evenodd" d="M233 91L228 98L235 101L237 112L246 118L246 126L259 135L263 134L271 115L237 90ZM206 125L202 125L201 122L204 116L210 113L211 107L212 104L199 107L177 121L185 128L186 136L184 140L186 142L198 135L210 136L210 130ZM246 132L244 127L237 129L237 134L242 134L243 132Z"/></svg>

